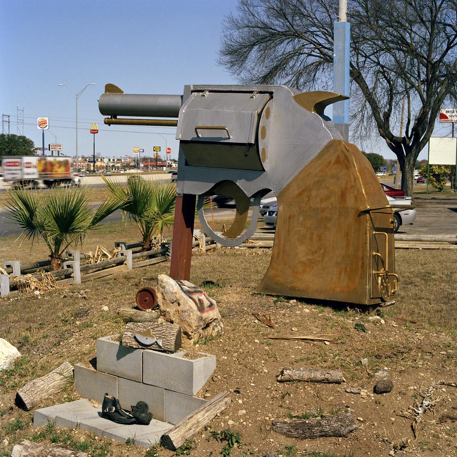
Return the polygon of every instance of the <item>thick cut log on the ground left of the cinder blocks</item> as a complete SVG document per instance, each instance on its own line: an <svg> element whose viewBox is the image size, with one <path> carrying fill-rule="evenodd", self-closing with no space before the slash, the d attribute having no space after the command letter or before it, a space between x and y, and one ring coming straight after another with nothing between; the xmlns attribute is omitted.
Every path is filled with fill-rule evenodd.
<svg viewBox="0 0 457 457"><path fill-rule="evenodd" d="M60 392L69 376L73 376L73 365L64 362L47 375L27 382L16 391L16 405L26 411L39 406L43 400Z"/></svg>

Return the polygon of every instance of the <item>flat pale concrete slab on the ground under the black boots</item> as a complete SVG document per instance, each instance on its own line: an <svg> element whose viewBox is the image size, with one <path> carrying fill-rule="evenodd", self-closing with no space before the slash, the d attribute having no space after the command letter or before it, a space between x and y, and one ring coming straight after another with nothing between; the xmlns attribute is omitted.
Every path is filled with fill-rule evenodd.
<svg viewBox="0 0 457 457"><path fill-rule="evenodd" d="M88 400L78 400L36 410L34 425L45 425L48 420L54 420L57 427L78 427L123 443L130 439L132 443L145 448L159 442L160 436L173 427L171 423L155 419L148 426L123 426L101 417L101 414L101 408L94 408Z"/></svg>

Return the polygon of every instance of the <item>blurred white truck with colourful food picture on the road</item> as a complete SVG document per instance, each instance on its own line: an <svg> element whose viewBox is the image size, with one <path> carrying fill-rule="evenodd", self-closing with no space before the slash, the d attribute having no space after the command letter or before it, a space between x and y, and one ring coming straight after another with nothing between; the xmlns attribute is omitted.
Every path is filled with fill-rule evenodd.
<svg viewBox="0 0 457 457"><path fill-rule="evenodd" d="M3 158L2 167L4 181L15 186L78 186L80 181L69 157L8 156Z"/></svg>

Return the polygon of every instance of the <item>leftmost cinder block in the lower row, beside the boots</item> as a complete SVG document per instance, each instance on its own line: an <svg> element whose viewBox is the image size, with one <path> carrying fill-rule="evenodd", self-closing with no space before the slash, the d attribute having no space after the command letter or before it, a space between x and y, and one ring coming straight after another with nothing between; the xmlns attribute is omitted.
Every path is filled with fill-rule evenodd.
<svg viewBox="0 0 457 457"><path fill-rule="evenodd" d="M103 402L105 393L117 397L117 376L76 364L75 387L81 396Z"/></svg>

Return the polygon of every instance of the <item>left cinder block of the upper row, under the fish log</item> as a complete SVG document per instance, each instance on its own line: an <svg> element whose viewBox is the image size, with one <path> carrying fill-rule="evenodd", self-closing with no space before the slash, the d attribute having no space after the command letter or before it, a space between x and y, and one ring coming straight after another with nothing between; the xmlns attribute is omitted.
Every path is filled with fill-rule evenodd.
<svg viewBox="0 0 457 457"><path fill-rule="evenodd" d="M141 382L143 349L124 347L117 335L97 339L97 371Z"/></svg>

